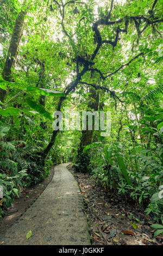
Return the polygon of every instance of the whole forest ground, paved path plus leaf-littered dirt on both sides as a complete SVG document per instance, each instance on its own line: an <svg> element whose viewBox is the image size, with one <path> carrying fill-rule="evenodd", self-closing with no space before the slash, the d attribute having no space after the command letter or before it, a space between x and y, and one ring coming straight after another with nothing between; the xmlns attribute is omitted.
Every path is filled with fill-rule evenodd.
<svg viewBox="0 0 163 256"><path fill-rule="evenodd" d="M22 191L7 210L0 223L0 245L88 245L85 215L92 245L163 245L161 235L153 238L150 218L135 205L124 202L118 194L110 195L90 174L75 172L72 164L55 169L55 174L53 167L44 181ZM32 237L27 239L29 230Z"/></svg>

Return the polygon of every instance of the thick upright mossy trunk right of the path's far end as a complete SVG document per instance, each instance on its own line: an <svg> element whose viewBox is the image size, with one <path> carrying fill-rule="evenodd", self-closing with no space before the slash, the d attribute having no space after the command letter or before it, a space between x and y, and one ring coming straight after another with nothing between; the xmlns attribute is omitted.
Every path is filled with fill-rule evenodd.
<svg viewBox="0 0 163 256"><path fill-rule="evenodd" d="M88 108L89 109L91 108L92 111L98 111L99 92L92 87L89 89L89 92L91 94L89 95L90 100L88 103ZM95 123L95 122L93 122L93 123ZM87 172L89 170L90 156L87 154L87 152L83 153L83 149L86 145L91 144L94 130L95 130L95 127L93 125L92 130L83 130L82 131L82 137L80 139L80 145L79 145L77 160L76 160L76 163L78 164L76 169L80 172Z"/></svg>

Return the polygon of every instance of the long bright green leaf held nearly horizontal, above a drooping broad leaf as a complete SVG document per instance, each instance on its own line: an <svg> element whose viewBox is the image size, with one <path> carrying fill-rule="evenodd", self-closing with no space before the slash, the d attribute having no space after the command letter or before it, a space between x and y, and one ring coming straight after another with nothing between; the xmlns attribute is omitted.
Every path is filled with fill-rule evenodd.
<svg viewBox="0 0 163 256"><path fill-rule="evenodd" d="M47 95L47 96L63 96L65 97L64 93L57 92L57 90L50 90L45 88L37 88L34 86L28 86L27 92L33 92L35 94Z"/></svg>

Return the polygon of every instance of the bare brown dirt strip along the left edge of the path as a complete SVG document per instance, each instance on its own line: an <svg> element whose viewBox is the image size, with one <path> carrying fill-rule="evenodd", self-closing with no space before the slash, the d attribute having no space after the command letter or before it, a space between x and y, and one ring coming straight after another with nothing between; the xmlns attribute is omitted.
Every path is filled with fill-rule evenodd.
<svg viewBox="0 0 163 256"><path fill-rule="evenodd" d="M11 207L5 210L6 215L0 219L0 235L3 234L16 220L21 216L37 197L45 190L54 176L54 166L51 168L49 175L33 187L26 188L20 194L20 198L15 198Z"/></svg>

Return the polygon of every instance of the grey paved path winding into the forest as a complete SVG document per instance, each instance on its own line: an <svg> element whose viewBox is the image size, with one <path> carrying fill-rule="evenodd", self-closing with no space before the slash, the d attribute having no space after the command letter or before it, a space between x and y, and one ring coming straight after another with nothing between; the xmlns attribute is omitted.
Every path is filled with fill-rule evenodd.
<svg viewBox="0 0 163 256"><path fill-rule="evenodd" d="M51 183L0 237L0 242L4 241L4 245L90 245L82 195L67 165L55 167ZM27 240L29 230L33 235Z"/></svg>

